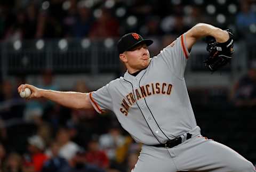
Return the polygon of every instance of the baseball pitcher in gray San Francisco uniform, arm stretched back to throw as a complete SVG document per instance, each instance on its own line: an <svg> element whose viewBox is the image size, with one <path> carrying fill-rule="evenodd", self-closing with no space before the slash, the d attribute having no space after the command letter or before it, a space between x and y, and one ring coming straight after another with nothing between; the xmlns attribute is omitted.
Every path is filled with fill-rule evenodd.
<svg viewBox="0 0 256 172"><path fill-rule="evenodd" d="M136 33L121 37L117 48L127 71L97 91L58 92L22 84L18 92L28 87L32 93L27 99L44 97L69 108L113 111L143 144L133 172L256 171L242 155L203 137L196 124L184 71L191 48L203 37L211 38L205 66L216 71L232 58L233 33L198 23L153 58L148 51L152 40Z"/></svg>

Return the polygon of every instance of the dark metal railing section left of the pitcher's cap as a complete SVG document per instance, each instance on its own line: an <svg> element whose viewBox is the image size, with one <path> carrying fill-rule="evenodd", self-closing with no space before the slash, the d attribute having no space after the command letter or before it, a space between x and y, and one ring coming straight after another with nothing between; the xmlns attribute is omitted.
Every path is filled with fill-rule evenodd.
<svg viewBox="0 0 256 172"><path fill-rule="evenodd" d="M119 70L115 46L106 47L104 42L95 41L83 47L82 41L70 40L66 45L60 45L60 41L46 40L40 49L36 41L20 42L20 47L15 47L17 43L2 43L2 75L35 73L44 69L90 73Z"/></svg>

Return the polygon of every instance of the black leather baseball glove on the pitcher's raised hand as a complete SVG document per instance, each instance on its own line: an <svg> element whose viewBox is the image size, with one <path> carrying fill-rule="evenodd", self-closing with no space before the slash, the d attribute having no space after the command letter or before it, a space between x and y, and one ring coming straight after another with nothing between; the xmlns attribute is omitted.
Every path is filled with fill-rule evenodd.
<svg viewBox="0 0 256 172"><path fill-rule="evenodd" d="M217 43L214 37L207 37L206 50L209 52L207 59L204 61L205 67L214 72L230 63L234 53L234 35L231 29L226 30L229 39L225 43Z"/></svg>

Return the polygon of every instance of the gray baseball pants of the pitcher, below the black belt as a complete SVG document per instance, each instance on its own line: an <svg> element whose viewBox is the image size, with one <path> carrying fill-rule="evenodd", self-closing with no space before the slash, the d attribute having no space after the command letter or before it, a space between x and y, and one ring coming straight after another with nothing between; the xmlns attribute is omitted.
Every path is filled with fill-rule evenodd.
<svg viewBox="0 0 256 172"><path fill-rule="evenodd" d="M252 163L223 144L201 135L170 149L143 145L132 172L253 172Z"/></svg>

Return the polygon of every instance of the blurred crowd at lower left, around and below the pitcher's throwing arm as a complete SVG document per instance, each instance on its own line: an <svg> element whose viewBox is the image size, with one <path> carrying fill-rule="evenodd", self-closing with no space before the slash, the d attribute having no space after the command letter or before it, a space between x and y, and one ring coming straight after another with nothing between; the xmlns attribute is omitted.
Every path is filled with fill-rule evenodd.
<svg viewBox="0 0 256 172"><path fill-rule="evenodd" d="M40 88L62 90L51 71ZM131 171L141 145L121 128L113 114L74 110L46 100L25 101L20 80L6 80L0 96L0 171ZM90 92L84 81L71 91Z"/></svg>

